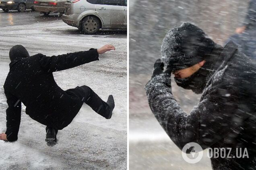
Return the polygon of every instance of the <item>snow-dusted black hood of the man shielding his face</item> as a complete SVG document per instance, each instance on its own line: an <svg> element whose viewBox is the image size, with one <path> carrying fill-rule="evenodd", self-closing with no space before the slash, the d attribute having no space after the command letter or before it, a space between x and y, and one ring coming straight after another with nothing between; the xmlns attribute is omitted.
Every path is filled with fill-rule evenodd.
<svg viewBox="0 0 256 170"><path fill-rule="evenodd" d="M184 23L167 32L161 46L161 58L173 71L185 69L205 60L216 45L202 29Z"/></svg>

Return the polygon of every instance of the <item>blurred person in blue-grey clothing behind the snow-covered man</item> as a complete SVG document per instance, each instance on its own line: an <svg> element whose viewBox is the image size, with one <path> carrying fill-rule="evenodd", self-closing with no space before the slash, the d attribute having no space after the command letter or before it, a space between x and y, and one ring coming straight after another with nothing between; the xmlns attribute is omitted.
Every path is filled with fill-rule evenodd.
<svg viewBox="0 0 256 170"><path fill-rule="evenodd" d="M251 58L256 58L256 0L251 0L246 18L241 27L236 28L237 34L232 35L226 42L232 40L238 45L239 50Z"/></svg>

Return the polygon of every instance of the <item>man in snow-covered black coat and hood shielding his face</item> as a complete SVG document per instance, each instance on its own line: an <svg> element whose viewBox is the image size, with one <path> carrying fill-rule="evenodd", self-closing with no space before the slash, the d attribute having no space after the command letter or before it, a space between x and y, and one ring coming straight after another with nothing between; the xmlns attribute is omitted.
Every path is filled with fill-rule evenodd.
<svg viewBox="0 0 256 170"><path fill-rule="evenodd" d="M163 63L155 62L145 90L171 140L181 150L190 142L202 149L225 148L225 157L211 158L214 170L256 169L255 61L233 42L223 48L190 23L166 34L161 55ZM171 73L178 86L202 94L189 115L171 93Z"/></svg>

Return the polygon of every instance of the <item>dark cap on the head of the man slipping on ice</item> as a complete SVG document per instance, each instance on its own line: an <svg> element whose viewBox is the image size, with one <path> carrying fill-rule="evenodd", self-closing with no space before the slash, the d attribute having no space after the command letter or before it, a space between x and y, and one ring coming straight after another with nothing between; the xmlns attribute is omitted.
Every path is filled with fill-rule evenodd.
<svg viewBox="0 0 256 170"><path fill-rule="evenodd" d="M14 45L9 52L10 61L14 61L15 59L22 57L29 57L29 52L22 45Z"/></svg>

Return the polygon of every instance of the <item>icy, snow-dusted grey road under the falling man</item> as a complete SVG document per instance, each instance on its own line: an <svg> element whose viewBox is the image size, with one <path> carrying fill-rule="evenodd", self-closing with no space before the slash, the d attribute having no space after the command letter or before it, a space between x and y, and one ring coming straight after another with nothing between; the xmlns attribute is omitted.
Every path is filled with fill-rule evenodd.
<svg viewBox="0 0 256 170"><path fill-rule="evenodd" d="M25 21L21 22L21 18ZM116 107L112 118L107 120L84 104L72 123L58 132L58 144L47 146L45 126L26 115L23 105L18 141L0 141L0 169L126 169L126 32L83 35L59 17L43 18L37 12L4 13L2 10L0 30L0 132L6 130L7 103L3 85L9 70L8 51L13 45L25 46L30 55L43 53L48 56L105 44L116 47L116 51L101 55L97 62L54 73L56 82L64 90L88 85L104 100L113 94Z"/></svg>

